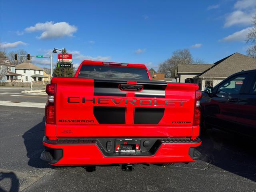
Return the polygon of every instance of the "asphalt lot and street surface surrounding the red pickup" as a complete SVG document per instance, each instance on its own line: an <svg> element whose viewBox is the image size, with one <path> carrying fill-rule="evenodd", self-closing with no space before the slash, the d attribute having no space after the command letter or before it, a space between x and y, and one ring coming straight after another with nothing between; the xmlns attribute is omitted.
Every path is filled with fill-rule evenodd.
<svg viewBox="0 0 256 192"><path fill-rule="evenodd" d="M44 95L27 88L0 88L1 101L43 104ZM208 130L201 136L201 160L174 166L138 164L55 170L40 160L44 150L44 108L0 106L0 191L256 191L255 143Z"/></svg>

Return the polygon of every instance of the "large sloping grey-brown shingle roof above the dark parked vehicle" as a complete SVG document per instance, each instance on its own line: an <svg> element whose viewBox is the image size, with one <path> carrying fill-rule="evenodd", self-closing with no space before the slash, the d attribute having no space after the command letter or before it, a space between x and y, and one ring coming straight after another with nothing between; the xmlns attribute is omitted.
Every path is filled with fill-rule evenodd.
<svg viewBox="0 0 256 192"><path fill-rule="evenodd" d="M256 59L249 56L234 53L214 63L211 68L208 68L196 77L228 77L242 70L256 69ZM196 78L194 77L194 78Z"/></svg>

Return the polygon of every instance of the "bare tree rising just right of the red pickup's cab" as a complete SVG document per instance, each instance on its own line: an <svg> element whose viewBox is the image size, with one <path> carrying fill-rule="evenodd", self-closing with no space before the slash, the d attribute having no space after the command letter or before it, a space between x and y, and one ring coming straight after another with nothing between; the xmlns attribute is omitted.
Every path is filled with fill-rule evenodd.
<svg viewBox="0 0 256 192"><path fill-rule="evenodd" d="M179 49L172 53L171 58L159 64L158 73L164 73L166 77L172 78L175 75L175 70L178 68L178 65L203 63L205 63L205 61L202 59L197 58L194 60L188 49Z"/></svg>

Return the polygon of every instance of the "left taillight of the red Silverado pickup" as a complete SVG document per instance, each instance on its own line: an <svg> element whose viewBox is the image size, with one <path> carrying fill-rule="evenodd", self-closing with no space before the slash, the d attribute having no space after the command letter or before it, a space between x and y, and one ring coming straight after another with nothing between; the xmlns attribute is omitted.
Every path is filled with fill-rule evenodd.
<svg viewBox="0 0 256 192"><path fill-rule="evenodd" d="M45 106L45 121L47 124L55 124L55 105L54 94L56 86L55 84L46 85L46 93L48 94L48 101Z"/></svg>

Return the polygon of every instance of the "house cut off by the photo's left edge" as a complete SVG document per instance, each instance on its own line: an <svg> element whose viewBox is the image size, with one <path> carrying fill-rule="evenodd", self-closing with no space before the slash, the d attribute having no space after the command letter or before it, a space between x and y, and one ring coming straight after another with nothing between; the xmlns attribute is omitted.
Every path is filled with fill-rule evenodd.
<svg viewBox="0 0 256 192"><path fill-rule="evenodd" d="M0 62L0 82L19 82L22 74L15 72L15 65L10 60Z"/></svg>

